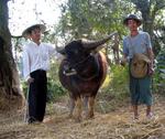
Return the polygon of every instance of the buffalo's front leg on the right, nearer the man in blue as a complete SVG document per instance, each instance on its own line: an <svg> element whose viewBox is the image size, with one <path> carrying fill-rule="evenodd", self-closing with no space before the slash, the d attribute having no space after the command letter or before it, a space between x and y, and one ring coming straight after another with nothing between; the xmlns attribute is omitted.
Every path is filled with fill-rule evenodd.
<svg viewBox="0 0 165 139"><path fill-rule="evenodd" d="M88 100L89 109L88 109L87 118L92 118L94 117L94 105L95 105L95 97L89 97L89 100Z"/></svg>

